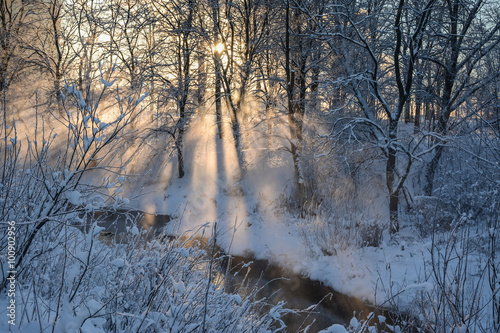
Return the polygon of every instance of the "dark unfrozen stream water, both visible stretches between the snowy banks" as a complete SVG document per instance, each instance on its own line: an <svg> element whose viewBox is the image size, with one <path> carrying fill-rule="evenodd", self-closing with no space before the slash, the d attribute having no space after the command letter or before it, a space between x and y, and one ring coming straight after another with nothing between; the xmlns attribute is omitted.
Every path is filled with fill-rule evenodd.
<svg viewBox="0 0 500 333"><path fill-rule="evenodd" d="M123 239L127 228L130 230L134 226L139 232L145 230L148 237L153 237L172 220L169 215L144 214L137 210L102 211L87 218L105 228L101 238L114 241ZM207 242L202 240L201 243ZM219 251L219 255L221 253ZM364 320L373 313L370 326L377 326L379 332L390 331L385 323L379 323L379 316L384 316L386 323L393 325L391 317L394 315L389 311L375 309L357 298L341 294L319 281L293 274L267 260L255 259L250 253L231 257L222 253L222 256L221 269L228 292L241 291L242 285L255 286L260 289L257 299L265 298L273 305L285 301L287 308L296 310L297 314L283 318L287 332L303 331L308 326L308 332L318 332L333 324L348 325L354 314ZM235 275L236 272L239 273Z"/></svg>

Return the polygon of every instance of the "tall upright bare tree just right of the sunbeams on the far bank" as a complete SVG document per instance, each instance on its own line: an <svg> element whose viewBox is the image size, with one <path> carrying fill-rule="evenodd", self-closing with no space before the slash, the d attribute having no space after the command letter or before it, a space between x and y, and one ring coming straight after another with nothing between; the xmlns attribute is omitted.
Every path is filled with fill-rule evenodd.
<svg viewBox="0 0 500 333"><path fill-rule="evenodd" d="M294 165L294 179L298 205L306 200L306 175L303 166L307 111L318 108L319 63L322 60L321 41L317 38L318 22L307 15L321 17L326 9L325 1L287 1L285 10L285 55L286 112L289 129L290 152ZM308 107L308 100L311 101ZM310 196L310 195L309 195Z"/></svg>

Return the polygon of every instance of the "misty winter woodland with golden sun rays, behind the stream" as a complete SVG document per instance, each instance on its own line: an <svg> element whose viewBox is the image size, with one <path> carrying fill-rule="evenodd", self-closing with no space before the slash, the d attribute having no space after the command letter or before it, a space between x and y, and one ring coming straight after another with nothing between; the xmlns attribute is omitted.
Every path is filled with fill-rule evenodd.
<svg viewBox="0 0 500 333"><path fill-rule="evenodd" d="M134 197L161 185L152 209L186 186L211 222L234 198L238 220L263 210L247 196L272 195L280 214L323 228L310 243L377 247L404 224L496 235L497 0L0 0L0 95L0 220L26 222L19 272L49 251L38 238L60 216L130 203L126 178Z"/></svg>

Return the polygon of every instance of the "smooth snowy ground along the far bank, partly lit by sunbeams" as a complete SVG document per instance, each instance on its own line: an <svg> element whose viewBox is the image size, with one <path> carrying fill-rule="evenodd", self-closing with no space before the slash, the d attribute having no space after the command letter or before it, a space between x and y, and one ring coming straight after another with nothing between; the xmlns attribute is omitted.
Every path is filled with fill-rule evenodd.
<svg viewBox="0 0 500 333"><path fill-rule="evenodd" d="M290 154L279 148L279 139L273 139L268 148L258 134L245 138L248 163L238 182L240 168L228 138L229 126L219 140L215 117L199 116L192 121L185 136L183 179L176 176L175 156L165 156L168 150L163 149L161 137L127 156L130 176L125 195L133 208L174 217L180 232L217 222L218 242L227 253L251 253L371 304L408 310L418 299L418 306L430 313L432 306L427 302L438 297L437 285L446 283L450 288L463 284L460 288L467 290L461 296L463 302L471 294L474 306L479 306L473 304L479 303L476 298L481 298L481 304L491 301L484 279L489 239L486 223L468 227L470 221L464 217L454 222L456 228L442 228L422 237L403 219L396 235L383 229L374 231L382 233L377 247L347 240L339 246L330 244L335 253L329 253L320 243L334 242L336 230L321 220L324 216L300 218L284 207L293 174ZM275 128L279 131L286 129ZM380 207L371 209L380 211L381 219L386 216ZM478 288L484 293L476 295Z"/></svg>

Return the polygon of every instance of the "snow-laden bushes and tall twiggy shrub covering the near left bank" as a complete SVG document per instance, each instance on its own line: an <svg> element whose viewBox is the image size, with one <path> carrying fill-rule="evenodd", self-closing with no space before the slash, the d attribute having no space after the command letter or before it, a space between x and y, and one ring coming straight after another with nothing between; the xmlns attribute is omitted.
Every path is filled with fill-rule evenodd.
<svg viewBox="0 0 500 333"><path fill-rule="evenodd" d="M103 124L98 107L113 83L88 96L66 85L65 115L57 115L54 130L45 128L38 107L29 139L18 140L15 126L0 126L1 304L9 271L16 271L17 283L16 326L2 327L2 321L0 331L283 330L280 317L289 312L283 304L269 308L264 300L254 301L252 291L226 293L223 279L212 276L217 262L199 247L184 248L167 237L147 242L137 228L123 242L99 240L102 228L92 225L89 213L127 202L120 196L120 170L102 161L147 95L127 103L116 89L119 114L107 119L107 110ZM110 172L101 182L84 181L96 168ZM16 225L14 268L7 262L7 221Z"/></svg>

